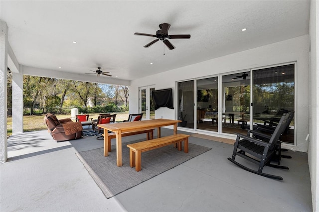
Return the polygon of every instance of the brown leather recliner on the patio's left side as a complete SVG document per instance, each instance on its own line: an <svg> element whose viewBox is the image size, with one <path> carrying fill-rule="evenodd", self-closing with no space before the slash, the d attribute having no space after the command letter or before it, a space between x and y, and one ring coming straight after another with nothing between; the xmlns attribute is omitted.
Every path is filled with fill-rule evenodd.
<svg viewBox="0 0 319 212"><path fill-rule="evenodd" d="M78 139L82 135L83 128L81 122L73 122L71 118L58 120L55 114L47 113L44 117L44 122L56 141Z"/></svg>

